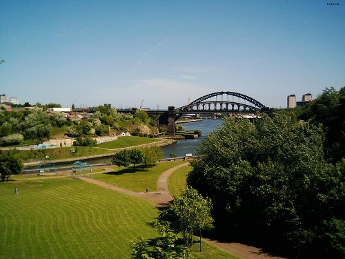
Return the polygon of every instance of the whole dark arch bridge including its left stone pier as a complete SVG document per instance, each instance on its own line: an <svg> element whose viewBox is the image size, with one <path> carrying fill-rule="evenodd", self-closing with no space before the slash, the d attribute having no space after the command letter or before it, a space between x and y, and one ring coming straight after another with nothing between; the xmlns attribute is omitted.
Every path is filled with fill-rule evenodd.
<svg viewBox="0 0 345 259"><path fill-rule="evenodd" d="M175 121L189 113L255 113L265 111L268 107L256 99L235 92L217 92L199 97L186 106L175 108L169 106L168 112L159 116L159 129L175 135Z"/></svg>

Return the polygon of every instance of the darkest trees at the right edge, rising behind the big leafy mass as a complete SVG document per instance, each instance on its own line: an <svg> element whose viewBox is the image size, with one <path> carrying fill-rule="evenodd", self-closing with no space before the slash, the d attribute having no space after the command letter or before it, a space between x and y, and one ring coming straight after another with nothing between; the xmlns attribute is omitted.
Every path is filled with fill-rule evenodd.
<svg viewBox="0 0 345 259"><path fill-rule="evenodd" d="M298 118L322 124L326 133L324 150L328 160L337 162L345 157L345 87L339 91L326 88L322 95L301 111Z"/></svg>

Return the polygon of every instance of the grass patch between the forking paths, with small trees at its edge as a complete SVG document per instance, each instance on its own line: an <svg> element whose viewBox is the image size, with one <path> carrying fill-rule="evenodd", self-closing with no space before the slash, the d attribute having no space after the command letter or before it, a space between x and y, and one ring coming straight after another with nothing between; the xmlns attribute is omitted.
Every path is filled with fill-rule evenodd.
<svg viewBox="0 0 345 259"><path fill-rule="evenodd" d="M146 187L148 191L158 191L157 181L161 173L183 163L183 161L162 162L150 167L148 171L142 171L140 168L136 173L133 173L132 167L120 171L114 167L113 172L98 173L93 175L93 178L135 192L145 191Z"/></svg>

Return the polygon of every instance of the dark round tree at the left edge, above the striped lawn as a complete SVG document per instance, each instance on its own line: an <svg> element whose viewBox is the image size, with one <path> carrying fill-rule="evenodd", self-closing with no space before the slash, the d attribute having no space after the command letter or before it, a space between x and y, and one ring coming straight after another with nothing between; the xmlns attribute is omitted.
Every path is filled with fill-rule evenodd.
<svg viewBox="0 0 345 259"><path fill-rule="evenodd" d="M17 175L23 169L23 162L17 155L17 151L0 151L0 173L1 180L10 178L12 174Z"/></svg>

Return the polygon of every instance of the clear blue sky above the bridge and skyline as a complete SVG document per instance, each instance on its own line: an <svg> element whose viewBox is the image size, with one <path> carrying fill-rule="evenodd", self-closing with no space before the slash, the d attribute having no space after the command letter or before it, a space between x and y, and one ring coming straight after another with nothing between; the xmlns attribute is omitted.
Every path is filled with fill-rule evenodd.
<svg viewBox="0 0 345 259"><path fill-rule="evenodd" d="M165 109L224 90L285 108L345 86L345 1L0 0L0 59L21 103Z"/></svg>

